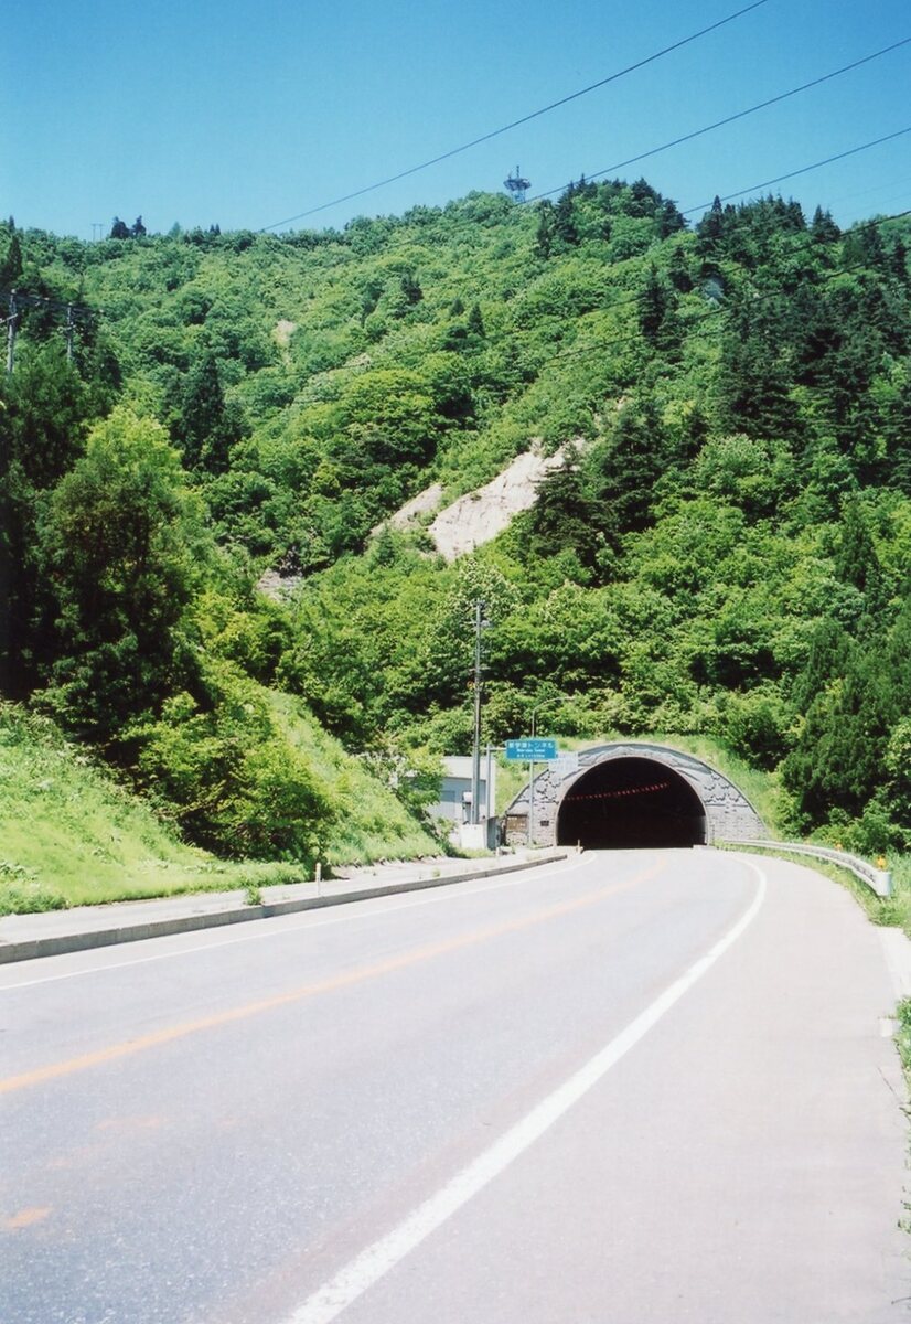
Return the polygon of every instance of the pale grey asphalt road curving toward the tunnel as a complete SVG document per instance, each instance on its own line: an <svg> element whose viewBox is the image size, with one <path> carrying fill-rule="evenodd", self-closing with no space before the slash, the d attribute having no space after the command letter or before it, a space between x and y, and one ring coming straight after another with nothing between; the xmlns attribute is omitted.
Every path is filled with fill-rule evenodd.
<svg viewBox="0 0 911 1324"><path fill-rule="evenodd" d="M597 853L244 928L0 970L4 1324L911 1319L834 884Z"/></svg>

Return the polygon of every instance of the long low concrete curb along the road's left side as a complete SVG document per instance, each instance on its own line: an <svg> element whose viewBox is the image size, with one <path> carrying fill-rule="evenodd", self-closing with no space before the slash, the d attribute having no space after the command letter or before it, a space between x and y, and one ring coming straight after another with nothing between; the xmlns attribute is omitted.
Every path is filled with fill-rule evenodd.
<svg viewBox="0 0 911 1324"><path fill-rule="evenodd" d="M95 947L113 947L117 943L142 943L148 937L169 937L173 933L192 933L197 929L221 928L226 924L245 924L256 919L275 919L279 915L295 915L299 911L343 906L348 902L369 900L376 896L393 896L397 892L424 891L428 887L449 887L454 883L467 883L478 878L495 878L501 874L515 874L523 869L536 869L559 859L567 859L569 851L567 850L552 850L539 859L497 865L493 869L469 869L463 873L449 874L441 878L417 878L410 882L385 883L379 887L359 887L344 892L316 892L315 896L301 896L294 900L269 902L262 906L237 906L230 910L147 920L140 924L119 924L113 928L93 929L82 933L56 933L48 937L24 939L21 941L0 940L0 965L8 965L13 961L30 961L41 956L62 956L66 952L85 952ZM163 904L167 904L167 898L162 898Z"/></svg>

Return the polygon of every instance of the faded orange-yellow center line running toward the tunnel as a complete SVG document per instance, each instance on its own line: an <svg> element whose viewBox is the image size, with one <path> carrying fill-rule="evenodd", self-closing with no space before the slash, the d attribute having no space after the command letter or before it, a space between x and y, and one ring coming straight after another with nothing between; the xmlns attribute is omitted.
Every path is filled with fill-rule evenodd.
<svg viewBox="0 0 911 1324"><path fill-rule="evenodd" d="M171 1025L162 1030L154 1030L151 1034L143 1034L136 1039L127 1039L124 1043L113 1043L110 1047L98 1049L94 1053L83 1053L79 1057L66 1058L62 1062L50 1062L48 1066L36 1067L33 1071L24 1071L21 1075L7 1076L5 1080L0 1080L0 1094L13 1094L17 1090L28 1090L32 1086L44 1084L48 1080L58 1080L62 1076L75 1075L78 1071L87 1071L90 1067L105 1066L109 1062L117 1062L120 1058L131 1057L135 1053L144 1053L147 1049L155 1049L163 1043L173 1043L176 1039L187 1038L191 1034L201 1034L204 1030L216 1030L224 1025L232 1025L234 1021L246 1021L253 1016L262 1016L264 1012L274 1012L278 1008L290 1006L293 1002L303 1002L307 998L319 997L323 993L336 993L340 989L352 988L356 984L364 984L368 980L379 978L383 974L392 974L397 970L408 969L412 965L420 965L421 963L434 960L438 956L448 956L452 952L458 952L478 943L487 943L491 939L502 937L507 933L520 932L523 928L546 924L548 920L559 919L563 915L571 915L573 911L584 910L587 906L595 906L597 902L605 900L608 896L614 896L618 892L637 887L640 883L645 883L649 879L655 878L663 871L663 869L665 866L662 863L657 863L650 869L641 870L624 883L614 883L610 887L600 887L597 891L585 892L583 896L561 902L557 906L550 906L546 910L538 911L534 915L527 915L523 919L508 920L507 923L494 924L489 928L475 929L471 933L465 933L461 937L450 937L442 943L429 943L425 947L413 948L410 952L389 957L385 961L377 961L373 965L360 965L354 970L334 974L331 978L319 980L315 984L302 984L298 988L289 989L286 993L278 993L274 997L260 998L256 1002L245 1002L241 1006L230 1008L226 1012L216 1012L213 1016L204 1016L196 1021L184 1021L179 1025Z"/></svg>

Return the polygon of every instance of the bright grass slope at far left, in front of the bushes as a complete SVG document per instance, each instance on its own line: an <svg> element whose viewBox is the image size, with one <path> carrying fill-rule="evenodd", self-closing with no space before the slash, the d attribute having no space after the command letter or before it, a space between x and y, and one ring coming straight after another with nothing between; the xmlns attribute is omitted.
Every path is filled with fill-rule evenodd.
<svg viewBox="0 0 911 1324"><path fill-rule="evenodd" d="M187 846L53 723L0 706L0 915L301 876Z"/></svg>

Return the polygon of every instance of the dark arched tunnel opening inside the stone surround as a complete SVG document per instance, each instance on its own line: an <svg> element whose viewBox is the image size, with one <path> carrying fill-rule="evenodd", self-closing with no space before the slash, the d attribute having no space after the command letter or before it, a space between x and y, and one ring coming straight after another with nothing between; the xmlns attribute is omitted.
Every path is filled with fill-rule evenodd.
<svg viewBox="0 0 911 1324"><path fill-rule="evenodd" d="M557 812L559 846L702 846L706 812L679 773L653 759L608 759L579 777Z"/></svg>

